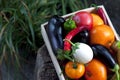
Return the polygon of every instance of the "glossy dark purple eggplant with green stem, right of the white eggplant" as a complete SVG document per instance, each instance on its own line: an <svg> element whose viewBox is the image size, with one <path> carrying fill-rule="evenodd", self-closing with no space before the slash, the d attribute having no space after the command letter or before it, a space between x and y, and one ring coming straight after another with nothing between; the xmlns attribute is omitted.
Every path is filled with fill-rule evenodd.
<svg viewBox="0 0 120 80"><path fill-rule="evenodd" d="M98 57L101 60L104 60L103 62L105 62L105 64L107 64L110 68L114 68L116 62L106 47L95 44L92 45L91 48L93 49L94 57Z"/></svg>

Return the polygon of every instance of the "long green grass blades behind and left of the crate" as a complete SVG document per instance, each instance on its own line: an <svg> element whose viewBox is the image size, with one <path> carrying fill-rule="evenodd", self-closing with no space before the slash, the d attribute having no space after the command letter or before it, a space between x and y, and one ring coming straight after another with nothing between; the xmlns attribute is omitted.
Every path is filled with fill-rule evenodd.
<svg viewBox="0 0 120 80"><path fill-rule="evenodd" d="M16 63L44 44L40 25L52 15L87 8L87 0L0 0L0 64Z"/></svg>

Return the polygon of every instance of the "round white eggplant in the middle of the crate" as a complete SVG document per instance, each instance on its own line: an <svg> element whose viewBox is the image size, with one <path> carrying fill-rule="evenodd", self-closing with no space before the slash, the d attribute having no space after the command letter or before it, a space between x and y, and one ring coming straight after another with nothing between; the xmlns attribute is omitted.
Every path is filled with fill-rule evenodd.
<svg viewBox="0 0 120 80"><path fill-rule="evenodd" d="M83 64L90 62L93 59L93 51L91 47L85 43L76 44L78 48L73 51L73 57L75 61Z"/></svg>

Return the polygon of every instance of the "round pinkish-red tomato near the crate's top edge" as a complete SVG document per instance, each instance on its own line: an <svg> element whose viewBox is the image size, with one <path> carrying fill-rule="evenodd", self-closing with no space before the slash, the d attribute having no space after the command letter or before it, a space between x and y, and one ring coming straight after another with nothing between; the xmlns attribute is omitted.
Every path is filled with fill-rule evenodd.
<svg viewBox="0 0 120 80"><path fill-rule="evenodd" d="M73 20L76 22L77 27L85 26L90 30L93 26L93 18L89 12L81 11L73 16Z"/></svg>

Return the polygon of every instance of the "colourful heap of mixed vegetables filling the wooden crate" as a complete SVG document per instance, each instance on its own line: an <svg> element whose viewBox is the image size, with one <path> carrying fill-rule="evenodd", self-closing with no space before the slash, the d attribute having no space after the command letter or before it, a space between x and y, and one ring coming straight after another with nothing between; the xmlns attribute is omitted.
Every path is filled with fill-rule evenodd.
<svg viewBox="0 0 120 80"><path fill-rule="evenodd" d="M103 23L96 26L92 14L97 15ZM116 41L115 36L108 43L92 40L97 33L93 29L101 25L106 32L111 31L111 34L100 34L107 37L114 35L100 7L95 12L77 12L67 19L55 15L48 21L45 27L47 35L53 52L62 62L60 64L64 67L63 73L67 79L107 80L111 74L115 74L113 80L120 80L119 63L115 54L118 52L112 47Z"/></svg>

